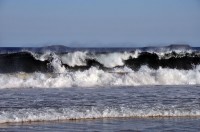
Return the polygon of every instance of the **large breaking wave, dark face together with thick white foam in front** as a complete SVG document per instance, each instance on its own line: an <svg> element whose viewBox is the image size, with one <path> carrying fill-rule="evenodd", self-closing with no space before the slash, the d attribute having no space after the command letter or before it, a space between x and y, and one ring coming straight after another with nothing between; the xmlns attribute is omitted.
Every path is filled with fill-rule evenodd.
<svg viewBox="0 0 200 132"><path fill-rule="evenodd" d="M4 51L0 88L197 85L199 65L199 50L188 47Z"/></svg>

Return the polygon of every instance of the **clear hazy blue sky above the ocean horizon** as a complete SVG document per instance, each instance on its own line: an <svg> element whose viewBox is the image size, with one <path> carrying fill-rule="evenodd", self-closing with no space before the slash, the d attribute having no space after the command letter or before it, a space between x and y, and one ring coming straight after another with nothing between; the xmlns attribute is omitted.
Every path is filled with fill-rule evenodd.
<svg viewBox="0 0 200 132"><path fill-rule="evenodd" d="M200 0L0 0L0 46L200 46Z"/></svg>

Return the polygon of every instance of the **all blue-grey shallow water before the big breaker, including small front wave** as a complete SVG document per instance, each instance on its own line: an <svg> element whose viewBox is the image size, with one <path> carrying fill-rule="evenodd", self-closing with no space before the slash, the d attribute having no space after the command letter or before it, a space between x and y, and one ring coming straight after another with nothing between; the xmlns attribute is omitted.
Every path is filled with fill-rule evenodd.
<svg viewBox="0 0 200 132"><path fill-rule="evenodd" d="M197 131L200 87L1 89L0 122L9 131Z"/></svg>

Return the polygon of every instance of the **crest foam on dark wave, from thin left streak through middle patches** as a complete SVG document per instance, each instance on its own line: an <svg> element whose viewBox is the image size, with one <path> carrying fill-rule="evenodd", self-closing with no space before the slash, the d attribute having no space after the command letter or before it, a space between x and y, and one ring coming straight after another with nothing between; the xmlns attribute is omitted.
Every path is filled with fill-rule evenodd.
<svg viewBox="0 0 200 132"><path fill-rule="evenodd" d="M74 67L74 66L85 66L86 65L86 59L93 59L104 65L108 68L113 68L116 66L123 66L124 60L132 58L137 58L139 55L139 51L135 51L134 53L130 52L113 52L113 53L102 53L102 54L89 54L87 51L75 51L75 52L69 52L62 55L57 55L53 52L46 51L43 54L36 54L33 52L30 52L33 57L35 57L37 60L45 61L50 60L52 58L55 58L54 56L57 56L56 58L60 59L60 61L63 64L67 64L68 66Z"/></svg>

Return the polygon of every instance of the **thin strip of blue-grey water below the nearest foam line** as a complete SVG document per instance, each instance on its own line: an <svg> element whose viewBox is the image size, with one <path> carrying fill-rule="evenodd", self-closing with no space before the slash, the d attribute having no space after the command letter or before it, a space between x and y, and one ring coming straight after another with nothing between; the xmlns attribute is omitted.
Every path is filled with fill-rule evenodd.
<svg viewBox="0 0 200 132"><path fill-rule="evenodd" d="M53 122L9 123L0 131L199 131L200 118L110 118Z"/></svg>

